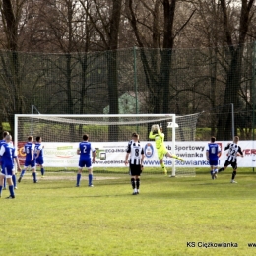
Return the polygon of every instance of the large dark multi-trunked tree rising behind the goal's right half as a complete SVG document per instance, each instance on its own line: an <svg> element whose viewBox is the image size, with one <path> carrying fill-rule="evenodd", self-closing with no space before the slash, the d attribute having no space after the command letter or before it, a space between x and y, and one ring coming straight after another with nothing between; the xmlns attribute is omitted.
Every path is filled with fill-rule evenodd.
<svg viewBox="0 0 256 256"><path fill-rule="evenodd" d="M176 92L174 92L175 96L170 96L170 73L174 39L188 24L194 11L177 28L174 19L177 5L176 0L157 0L150 3L148 1L138 2L129 0L128 2L128 17L140 47L146 84L150 93L150 104L153 106L151 112L168 113L170 112L170 101L176 96ZM144 9L144 12L141 12L141 8ZM145 16L151 16L152 19L146 20L141 16L141 13L145 13L145 9L147 10ZM147 34L150 34L151 38ZM148 58L147 49L145 49L147 46L157 46L160 48L160 51L152 51ZM159 59L158 55L160 56ZM159 66L157 66L157 59Z"/></svg>

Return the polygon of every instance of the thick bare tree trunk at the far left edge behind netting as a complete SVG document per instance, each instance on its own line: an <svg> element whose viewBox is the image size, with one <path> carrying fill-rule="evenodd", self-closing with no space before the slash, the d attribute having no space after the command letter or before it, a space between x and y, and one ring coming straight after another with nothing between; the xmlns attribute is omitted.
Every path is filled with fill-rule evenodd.
<svg viewBox="0 0 256 256"><path fill-rule="evenodd" d="M11 126L11 133L14 131L14 114L23 113L23 97L22 92L22 77L23 73L20 70L19 54L18 54L18 38L20 27L22 26L23 6L26 0L17 1L15 4L11 0L3 0L0 2L2 15L2 24L4 32L4 40L2 45L8 50L6 54L8 58L4 58L1 54L1 62L3 69L2 86L4 98L2 104Z"/></svg>

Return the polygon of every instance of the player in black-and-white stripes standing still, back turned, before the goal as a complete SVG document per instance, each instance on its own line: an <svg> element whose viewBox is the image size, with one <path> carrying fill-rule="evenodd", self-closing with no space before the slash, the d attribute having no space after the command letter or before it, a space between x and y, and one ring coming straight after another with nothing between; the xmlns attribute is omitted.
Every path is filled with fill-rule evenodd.
<svg viewBox="0 0 256 256"><path fill-rule="evenodd" d="M130 159L129 159L130 156ZM129 161L128 161L129 159ZM139 134L133 133L132 140L129 141L126 156L125 165L129 163L131 184L133 188L133 195L139 194L140 189L140 176L143 169L144 149L139 141Z"/></svg>

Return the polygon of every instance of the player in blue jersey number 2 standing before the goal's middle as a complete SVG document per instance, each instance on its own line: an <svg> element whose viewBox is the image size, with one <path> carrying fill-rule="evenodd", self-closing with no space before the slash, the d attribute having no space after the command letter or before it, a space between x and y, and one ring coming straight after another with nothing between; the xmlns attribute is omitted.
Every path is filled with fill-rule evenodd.
<svg viewBox="0 0 256 256"><path fill-rule="evenodd" d="M79 168L77 174L77 187L80 185L81 173L83 167L88 168L88 185L93 187L93 167L92 162L94 163L96 160L96 150L91 145L91 142L88 141L89 137L88 134L83 135L83 141L79 144L77 149L77 154L80 155L79 158ZM93 160L91 159L91 152L93 155Z"/></svg>

